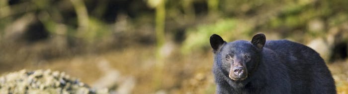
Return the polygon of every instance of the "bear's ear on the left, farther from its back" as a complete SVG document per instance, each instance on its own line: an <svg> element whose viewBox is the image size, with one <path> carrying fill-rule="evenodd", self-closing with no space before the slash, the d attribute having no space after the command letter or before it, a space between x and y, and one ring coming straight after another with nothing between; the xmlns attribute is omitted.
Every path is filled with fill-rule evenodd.
<svg viewBox="0 0 348 94"><path fill-rule="evenodd" d="M210 46L213 48L214 53L225 43L219 35L213 34L210 36Z"/></svg>

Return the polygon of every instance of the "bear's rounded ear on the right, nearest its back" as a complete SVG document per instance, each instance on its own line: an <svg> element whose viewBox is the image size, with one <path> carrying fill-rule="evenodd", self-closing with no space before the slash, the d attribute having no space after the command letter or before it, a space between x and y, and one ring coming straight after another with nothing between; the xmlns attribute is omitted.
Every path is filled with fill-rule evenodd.
<svg viewBox="0 0 348 94"><path fill-rule="evenodd" d="M262 33L256 34L252 39L252 44L258 48L263 48L265 43L266 37Z"/></svg>

